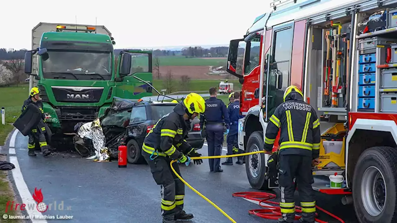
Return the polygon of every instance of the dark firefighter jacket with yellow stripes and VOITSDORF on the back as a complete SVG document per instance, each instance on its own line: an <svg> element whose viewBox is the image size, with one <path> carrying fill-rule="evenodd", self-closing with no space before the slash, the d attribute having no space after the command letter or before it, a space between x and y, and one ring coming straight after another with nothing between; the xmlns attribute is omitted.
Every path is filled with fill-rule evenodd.
<svg viewBox="0 0 397 223"><path fill-rule="evenodd" d="M265 134L265 150L271 151L280 133L280 155L301 155L318 158L320 154L320 122L316 110L298 93L289 96L270 117Z"/></svg>

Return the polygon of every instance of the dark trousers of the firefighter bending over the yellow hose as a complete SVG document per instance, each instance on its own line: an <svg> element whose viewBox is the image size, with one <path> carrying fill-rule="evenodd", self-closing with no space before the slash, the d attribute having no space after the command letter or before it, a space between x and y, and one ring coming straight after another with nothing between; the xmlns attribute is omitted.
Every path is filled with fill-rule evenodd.
<svg viewBox="0 0 397 223"><path fill-rule="evenodd" d="M143 152L143 157L147 161L154 181L161 188L161 211L163 218L173 219L183 210L183 198L185 197L185 185L173 173L169 158L158 156L150 160L150 154ZM181 176L178 163L173 163L172 167Z"/></svg>

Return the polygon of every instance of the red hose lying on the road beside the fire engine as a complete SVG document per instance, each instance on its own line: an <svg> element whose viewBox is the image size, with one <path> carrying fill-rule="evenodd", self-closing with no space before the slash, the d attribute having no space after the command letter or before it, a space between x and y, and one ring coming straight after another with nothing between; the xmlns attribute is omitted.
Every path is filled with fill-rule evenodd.
<svg viewBox="0 0 397 223"><path fill-rule="evenodd" d="M281 210L279 207L279 202L271 201L272 199L276 198L276 194L271 194L271 193L266 193L266 192L237 192L237 193L233 194L233 197L241 197L241 198L245 198L248 200L257 201L257 202L259 202L259 206L265 208L265 209L250 210L248 212L249 214L253 214L258 217L262 217L265 219L271 219L271 220L277 220L281 217ZM277 206L275 206L275 205L277 205ZM301 207L295 206L295 208L296 208L297 213L302 212ZM318 210L330 215L331 217L337 219L341 223L345 223L345 221L343 221L340 217L337 217L336 215L320 208L319 206L316 206L316 208ZM316 213L316 217L317 216L318 216L318 214ZM299 220L300 218L301 218L301 216L295 215L295 220ZM322 221L317 218L316 218L316 222L328 223L326 221Z"/></svg>

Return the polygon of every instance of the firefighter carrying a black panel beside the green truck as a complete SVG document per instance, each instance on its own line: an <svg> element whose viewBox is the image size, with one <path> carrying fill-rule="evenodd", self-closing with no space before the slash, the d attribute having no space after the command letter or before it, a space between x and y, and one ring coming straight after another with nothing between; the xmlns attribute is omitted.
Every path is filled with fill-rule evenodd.
<svg viewBox="0 0 397 223"><path fill-rule="evenodd" d="M40 98L40 90L37 87L33 87L30 90L29 93L29 98L23 102L22 106L22 111L23 112L29 104L35 104L37 107L39 107L39 110L41 111L41 116L42 119L40 123L37 125L36 128L32 129L31 132L29 133L29 141L27 144L28 147L28 155L29 156L36 156L35 154L35 147L36 147L36 141L39 142L41 153L43 156L48 156L51 152L48 150L48 145L45 137L46 133L46 127L44 125L45 123L45 115L43 111L43 103L41 102Z"/></svg>

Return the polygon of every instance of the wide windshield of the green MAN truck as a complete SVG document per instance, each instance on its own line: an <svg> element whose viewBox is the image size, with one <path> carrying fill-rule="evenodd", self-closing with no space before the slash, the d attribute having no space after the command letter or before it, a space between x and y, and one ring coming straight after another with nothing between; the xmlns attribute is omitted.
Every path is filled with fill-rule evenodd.
<svg viewBox="0 0 397 223"><path fill-rule="evenodd" d="M112 54L110 52L48 51L42 56L44 78L110 80Z"/></svg>

